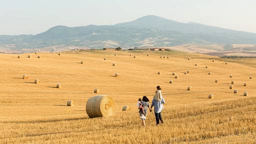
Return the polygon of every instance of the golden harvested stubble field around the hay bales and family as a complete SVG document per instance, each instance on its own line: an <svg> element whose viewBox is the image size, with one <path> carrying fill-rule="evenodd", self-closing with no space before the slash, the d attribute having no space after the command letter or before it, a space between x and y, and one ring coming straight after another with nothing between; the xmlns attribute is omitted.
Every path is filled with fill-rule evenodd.
<svg viewBox="0 0 256 144"><path fill-rule="evenodd" d="M255 58L103 50L67 51L60 56L40 52L40 58L34 53L19 55L22 58L0 54L0 143L256 142L256 78L249 78L256 77ZM85 62L80 64L80 59ZM191 73L184 74L187 69ZM40 82L35 84L34 79ZM229 89L231 80L238 93ZM151 103L157 85L166 101L164 123L156 126L150 112L143 128L136 102L146 95ZM93 92L95 87L99 93ZM115 103L111 116L88 117L86 102L95 95L111 96ZM74 106L66 106L70 99ZM122 111L123 105L130 109Z"/></svg>

